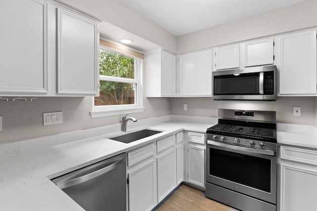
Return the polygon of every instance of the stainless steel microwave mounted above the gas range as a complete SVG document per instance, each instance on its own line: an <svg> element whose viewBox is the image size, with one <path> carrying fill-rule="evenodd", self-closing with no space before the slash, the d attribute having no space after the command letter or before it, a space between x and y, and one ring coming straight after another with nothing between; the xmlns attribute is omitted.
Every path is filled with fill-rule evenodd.
<svg viewBox="0 0 317 211"><path fill-rule="evenodd" d="M214 100L276 100L276 66L212 72Z"/></svg>

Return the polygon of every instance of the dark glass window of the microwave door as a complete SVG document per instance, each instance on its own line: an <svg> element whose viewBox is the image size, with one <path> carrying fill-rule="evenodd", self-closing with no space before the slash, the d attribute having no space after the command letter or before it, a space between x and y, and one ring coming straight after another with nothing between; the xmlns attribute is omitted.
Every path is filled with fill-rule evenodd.
<svg viewBox="0 0 317 211"><path fill-rule="evenodd" d="M214 76L214 95L255 95L260 94L260 73L244 73L238 76Z"/></svg>

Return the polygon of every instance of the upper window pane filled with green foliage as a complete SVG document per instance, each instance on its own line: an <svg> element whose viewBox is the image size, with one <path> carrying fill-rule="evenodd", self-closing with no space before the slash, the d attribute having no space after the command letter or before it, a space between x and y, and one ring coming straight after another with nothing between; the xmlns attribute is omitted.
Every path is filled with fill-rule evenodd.
<svg viewBox="0 0 317 211"><path fill-rule="evenodd" d="M100 49L99 72L103 76L134 79L134 58Z"/></svg>

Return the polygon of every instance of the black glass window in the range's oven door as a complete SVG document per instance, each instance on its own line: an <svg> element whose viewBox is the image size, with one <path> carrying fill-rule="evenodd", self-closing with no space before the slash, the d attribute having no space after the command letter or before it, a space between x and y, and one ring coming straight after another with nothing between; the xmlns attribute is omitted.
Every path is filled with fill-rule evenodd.
<svg viewBox="0 0 317 211"><path fill-rule="evenodd" d="M209 174L270 193L271 161L210 149Z"/></svg>

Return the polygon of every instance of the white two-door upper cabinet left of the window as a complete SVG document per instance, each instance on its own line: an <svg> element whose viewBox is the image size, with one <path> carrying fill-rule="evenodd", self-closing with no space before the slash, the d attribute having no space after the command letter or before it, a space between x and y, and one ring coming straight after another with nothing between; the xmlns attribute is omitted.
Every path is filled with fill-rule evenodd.
<svg viewBox="0 0 317 211"><path fill-rule="evenodd" d="M0 18L0 95L98 95L98 20L48 0L1 0Z"/></svg>

